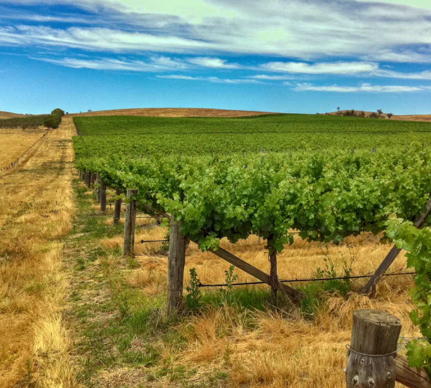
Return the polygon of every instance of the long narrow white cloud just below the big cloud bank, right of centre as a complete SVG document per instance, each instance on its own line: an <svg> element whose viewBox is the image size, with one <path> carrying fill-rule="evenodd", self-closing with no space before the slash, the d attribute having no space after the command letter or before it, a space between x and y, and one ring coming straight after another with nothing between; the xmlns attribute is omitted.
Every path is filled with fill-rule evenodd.
<svg viewBox="0 0 431 388"><path fill-rule="evenodd" d="M357 74L369 73L378 69L378 63L374 62L269 62L260 65L271 71L300 74Z"/></svg>

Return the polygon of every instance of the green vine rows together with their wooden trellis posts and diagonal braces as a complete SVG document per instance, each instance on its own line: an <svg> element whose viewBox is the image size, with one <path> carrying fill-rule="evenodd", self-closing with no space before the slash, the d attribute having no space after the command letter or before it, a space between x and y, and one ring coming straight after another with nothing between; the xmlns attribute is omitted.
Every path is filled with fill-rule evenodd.
<svg viewBox="0 0 431 388"><path fill-rule="evenodd" d="M262 118L256 122L185 120L175 122L177 127L175 119L157 122L164 123L157 127L153 118L127 118L118 128L116 118L80 119L82 136L74 138L76 166L86 184L94 186L102 211L106 210L108 187L116 190L114 214L126 206L123 254L133 255L137 209L159 223L166 219L163 224L170 225L169 314L182 308L189 241L256 278L247 284L268 284L273 294L283 293L294 303L302 298L300 291L291 287L294 283L319 281L278 278L278 253L293 242L294 233L310 242L335 244L362 232L380 233L383 240L393 239L403 246L408 255L412 255L409 249L415 236L431 247L429 228L415 228L425 224L431 211L430 123L390 127L378 120L360 124L341 120L334 124L330 118L324 122L307 116L307 124L302 126L296 118L286 116L269 120L267 126ZM149 124L148 128L142 123ZM366 130L362 130L364 123ZM125 134L117 135L125 124ZM319 128L320 124L324 126ZM187 125L191 126L189 131ZM344 125L352 126L351 130ZM114 223L118 221L114 216ZM397 222L405 224L397 227ZM222 238L236 243L251 234L259 237L259 244L261 238L266 242L269 273L220 247ZM365 287L363 292L370 293L384 276L414 275L386 274L398 252L393 247L375 274L351 278L369 277L369 289ZM424 255L415 258L416 263L426 261L428 256ZM419 264L414 267L418 285L424 279L420 276L424 269ZM425 295L428 286L419 282L419 287ZM415 297L415 301L422 303L421 298ZM425 312L421 319L427 317ZM428 358L423 360L425 365ZM419 366L422 359L416 362Z"/></svg>

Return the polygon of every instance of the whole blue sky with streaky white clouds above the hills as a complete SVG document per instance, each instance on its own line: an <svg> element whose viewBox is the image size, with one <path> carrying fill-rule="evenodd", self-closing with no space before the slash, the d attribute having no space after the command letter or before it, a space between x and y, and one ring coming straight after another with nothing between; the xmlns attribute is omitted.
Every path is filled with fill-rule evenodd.
<svg viewBox="0 0 431 388"><path fill-rule="evenodd" d="M0 0L0 110L431 114L431 1Z"/></svg>

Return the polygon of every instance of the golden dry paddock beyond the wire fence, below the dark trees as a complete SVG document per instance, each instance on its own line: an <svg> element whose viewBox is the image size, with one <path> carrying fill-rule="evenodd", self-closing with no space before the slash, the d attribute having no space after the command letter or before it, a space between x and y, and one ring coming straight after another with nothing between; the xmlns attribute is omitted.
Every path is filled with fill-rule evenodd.
<svg viewBox="0 0 431 388"><path fill-rule="evenodd" d="M47 129L0 128L0 168L6 167L21 156L28 147L40 139Z"/></svg>

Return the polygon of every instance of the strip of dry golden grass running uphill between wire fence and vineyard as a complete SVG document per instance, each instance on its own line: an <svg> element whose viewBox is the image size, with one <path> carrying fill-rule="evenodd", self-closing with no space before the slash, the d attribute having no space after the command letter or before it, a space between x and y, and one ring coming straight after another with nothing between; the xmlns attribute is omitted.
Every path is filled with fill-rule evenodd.
<svg viewBox="0 0 431 388"><path fill-rule="evenodd" d="M58 241L74 211L74 133L64 119L0 174L0 387L77 386L60 313L66 279Z"/></svg>

